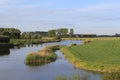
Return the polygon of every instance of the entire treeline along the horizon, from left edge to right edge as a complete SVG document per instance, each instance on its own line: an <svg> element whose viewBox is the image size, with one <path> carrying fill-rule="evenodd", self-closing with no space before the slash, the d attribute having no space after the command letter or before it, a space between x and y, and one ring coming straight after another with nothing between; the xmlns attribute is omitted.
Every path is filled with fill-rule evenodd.
<svg viewBox="0 0 120 80"><path fill-rule="evenodd" d="M71 28L60 28L52 29L48 32L44 31L34 31L34 32L23 32L16 28L0 28L1 40L6 41L10 39L41 39L42 37L55 37L59 38L94 38L94 37L120 37L120 34L116 33L114 35L97 35L97 34L74 34L74 29ZM5 38L4 38L5 37ZM8 38L7 38L8 37ZM0 40L0 41L1 41Z"/></svg>

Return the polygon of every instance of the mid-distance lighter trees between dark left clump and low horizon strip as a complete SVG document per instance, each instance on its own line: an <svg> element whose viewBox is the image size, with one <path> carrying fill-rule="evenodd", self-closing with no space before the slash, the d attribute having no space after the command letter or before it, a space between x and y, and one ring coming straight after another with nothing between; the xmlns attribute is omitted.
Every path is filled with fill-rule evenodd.
<svg viewBox="0 0 120 80"><path fill-rule="evenodd" d="M41 31L35 31L35 32L23 32L21 34L22 39L40 39L42 37L57 37L58 38L65 38L65 37L73 37L74 30L70 29L70 31L67 28L60 28L60 29L53 29L49 30L48 32L41 32Z"/></svg>

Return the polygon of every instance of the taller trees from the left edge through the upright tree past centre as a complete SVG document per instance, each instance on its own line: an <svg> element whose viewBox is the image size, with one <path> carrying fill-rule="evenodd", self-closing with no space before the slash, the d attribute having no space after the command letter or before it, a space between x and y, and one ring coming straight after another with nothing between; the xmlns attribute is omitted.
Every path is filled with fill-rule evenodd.
<svg viewBox="0 0 120 80"><path fill-rule="evenodd" d="M73 37L74 30L71 28L70 31L67 28L60 28L49 30L48 32L23 32L16 28L0 28L0 35L8 36L10 39L41 39L42 37Z"/></svg>

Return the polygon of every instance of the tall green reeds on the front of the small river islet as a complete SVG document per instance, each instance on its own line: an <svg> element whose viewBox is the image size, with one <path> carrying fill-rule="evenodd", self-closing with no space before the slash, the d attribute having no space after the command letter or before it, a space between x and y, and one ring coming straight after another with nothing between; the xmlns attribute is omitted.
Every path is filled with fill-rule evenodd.
<svg viewBox="0 0 120 80"><path fill-rule="evenodd" d="M39 53L30 53L25 59L25 63L30 66L39 66L55 61L57 58L56 54L49 53L47 56L41 56Z"/></svg>

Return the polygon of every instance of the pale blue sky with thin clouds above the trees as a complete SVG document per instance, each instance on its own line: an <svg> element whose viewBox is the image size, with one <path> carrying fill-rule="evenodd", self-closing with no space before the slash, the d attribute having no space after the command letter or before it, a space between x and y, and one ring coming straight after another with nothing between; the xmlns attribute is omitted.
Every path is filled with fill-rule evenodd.
<svg viewBox="0 0 120 80"><path fill-rule="evenodd" d="M120 0L0 0L0 27L120 34Z"/></svg>

